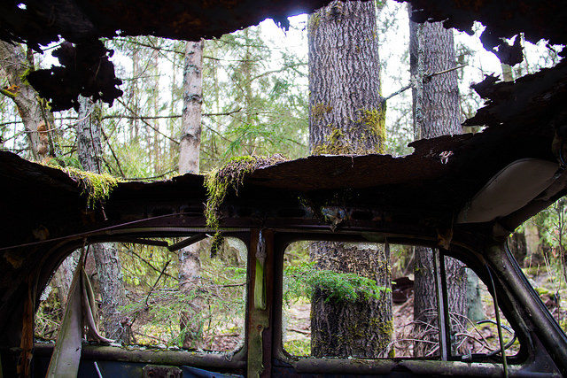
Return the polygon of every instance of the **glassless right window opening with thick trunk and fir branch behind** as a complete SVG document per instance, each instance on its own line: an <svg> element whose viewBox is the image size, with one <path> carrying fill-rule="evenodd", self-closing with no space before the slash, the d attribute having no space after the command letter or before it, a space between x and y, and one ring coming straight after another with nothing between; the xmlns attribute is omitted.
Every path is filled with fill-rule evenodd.
<svg viewBox="0 0 567 378"><path fill-rule="evenodd" d="M317 290L327 292L327 300L338 300L344 303L352 299L353 296L372 297L376 290L383 290L389 293L392 300L392 328L390 328L389 339L383 344L383 349L371 359L404 358L404 359L443 359L439 351L439 307L437 297L429 298L430 305L422 305L421 316L417 317L414 313L415 296L415 273L405 276L392 277L392 288L380 287L375 280L366 280L356 274L342 274L329 270L317 270L317 262L313 261L313 253L310 253L313 242L300 241L291 243L283 253L283 304L282 304L282 343L283 350L296 358L316 357L316 358L357 358L355 355L317 355L313 351L314 322L315 312L319 310L314 305L314 293ZM319 242L317 242L319 243ZM336 243L336 242L333 242ZM373 251L384 250L384 244L378 243L336 243L341 244L342 248L364 248ZM406 263L413 266L414 260L411 258L412 247L403 245L390 245L389 249L394 258L406 258ZM428 249L429 250L429 249ZM431 251L431 250L429 250ZM332 255L332 253L331 253ZM443 256L441 254L441 256ZM448 256L444 256L446 266L461 266L462 275L466 282L463 284L470 286L465 289L466 295L465 309L455 311L452 303L456 300L454 293L449 290L448 303L448 323L449 337L448 343L450 351L447 359L460 360L467 362L485 362L491 360L496 362L501 360L500 343L496 317L494 312L493 297L487 289L486 284L478 279L478 276L462 263ZM392 263L395 265L395 263ZM413 272L413 267L408 269L406 266L397 266L394 270L398 274L402 272ZM447 269L447 282L456 280L451 270ZM427 283L435 293L435 281L431 274L431 281ZM319 289L317 289L319 287ZM354 294L356 293L356 294ZM350 297L349 297L350 296ZM503 342L506 345L506 356L514 357L520 350L515 331L500 311ZM329 319L331 322L349 321L351 318ZM382 322L377 330L384 329L387 321ZM346 329L361 328L361 325L347 324ZM340 329L340 328L338 328ZM364 328L366 330L366 328ZM331 335L340 343L349 343L347 334ZM364 331L359 333L361 338ZM376 335L379 336L379 335ZM371 336L372 337L372 336ZM352 343L357 343L356 340ZM353 348L355 350L355 348ZM368 357L366 357L368 359Z"/></svg>

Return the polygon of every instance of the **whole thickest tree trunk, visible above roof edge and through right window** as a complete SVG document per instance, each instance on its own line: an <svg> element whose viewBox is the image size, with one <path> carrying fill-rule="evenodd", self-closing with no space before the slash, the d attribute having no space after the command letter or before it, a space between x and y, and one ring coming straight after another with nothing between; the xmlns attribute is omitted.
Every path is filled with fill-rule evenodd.
<svg viewBox="0 0 567 378"><path fill-rule="evenodd" d="M384 151L376 7L374 2L334 1L311 14L309 47L309 145L313 153ZM319 269L360 274L391 287L384 249L346 243L313 243ZM376 358L392 340L392 295L355 302L326 300L315 289L311 353L315 357Z"/></svg>

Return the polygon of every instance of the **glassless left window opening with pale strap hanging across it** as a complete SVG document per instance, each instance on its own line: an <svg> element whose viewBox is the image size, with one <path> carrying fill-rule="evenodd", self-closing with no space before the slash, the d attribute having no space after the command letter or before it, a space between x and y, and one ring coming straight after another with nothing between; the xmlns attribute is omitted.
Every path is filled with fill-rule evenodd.
<svg viewBox="0 0 567 378"><path fill-rule="evenodd" d="M232 352L244 344L245 243L225 237L214 258L212 237L195 238L198 243L182 245L183 249L172 248L177 251L167 248L193 237L189 236L89 246L85 270L96 299L95 320L112 345ZM105 297L113 289L105 287L103 275L108 272L101 272L101 262L95 258L101 248L114 251L111 258L120 266L120 291L113 298ZM69 255L43 290L35 313L36 342L53 343L58 336L79 255L80 251ZM113 319L105 308L109 301L114 305Z"/></svg>

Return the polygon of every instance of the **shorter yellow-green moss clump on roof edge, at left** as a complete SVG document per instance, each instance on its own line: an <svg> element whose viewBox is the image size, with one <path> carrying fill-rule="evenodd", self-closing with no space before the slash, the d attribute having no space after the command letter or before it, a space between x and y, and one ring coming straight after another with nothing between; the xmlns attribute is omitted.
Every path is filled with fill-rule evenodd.
<svg viewBox="0 0 567 378"><path fill-rule="evenodd" d="M87 196L87 207L89 209L94 209L97 204L103 204L120 182L120 179L110 174L95 174L73 166L67 166L63 168L63 171L79 181L82 195Z"/></svg>

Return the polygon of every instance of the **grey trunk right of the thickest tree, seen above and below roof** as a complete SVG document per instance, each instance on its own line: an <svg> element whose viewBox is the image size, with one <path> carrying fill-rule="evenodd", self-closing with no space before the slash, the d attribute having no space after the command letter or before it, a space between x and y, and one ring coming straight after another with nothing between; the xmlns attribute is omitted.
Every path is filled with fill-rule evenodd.
<svg viewBox="0 0 567 378"><path fill-rule="evenodd" d="M411 12L411 9L409 9ZM410 71L413 83L414 132L416 139L461 133L457 73L451 71L428 77L431 73L456 66L453 32L440 22L416 24L409 21ZM466 270L461 262L446 258L449 312L466 316ZM432 252L416 248L414 284L415 335L425 341L438 340L428 331L438 327L437 300L433 284ZM453 319L453 317L452 317ZM462 318L454 318L452 333L461 327ZM423 335L423 337L420 337ZM431 350L429 343L416 343L414 354L424 356Z"/></svg>

